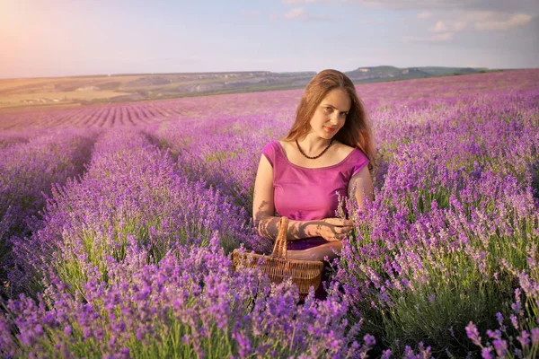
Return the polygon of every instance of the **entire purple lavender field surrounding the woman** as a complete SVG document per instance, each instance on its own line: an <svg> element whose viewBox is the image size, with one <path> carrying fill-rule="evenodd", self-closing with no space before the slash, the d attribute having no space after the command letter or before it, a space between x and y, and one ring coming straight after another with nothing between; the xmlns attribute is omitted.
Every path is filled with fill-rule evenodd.
<svg viewBox="0 0 539 359"><path fill-rule="evenodd" d="M0 356L539 352L539 70L357 86L375 200L328 298L232 271L302 90L0 112Z"/></svg>

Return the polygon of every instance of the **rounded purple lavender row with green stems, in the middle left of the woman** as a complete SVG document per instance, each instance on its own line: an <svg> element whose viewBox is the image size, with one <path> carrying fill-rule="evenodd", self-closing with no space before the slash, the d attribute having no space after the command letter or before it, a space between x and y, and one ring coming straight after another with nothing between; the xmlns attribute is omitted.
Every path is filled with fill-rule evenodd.
<svg viewBox="0 0 539 359"><path fill-rule="evenodd" d="M244 217L217 191L175 173L144 134L111 131L95 144L81 180L53 188L43 228L14 242L23 270L13 271L13 284L40 288L40 273L50 266L74 288L84 286L88 267L98 267L104 280L105 259L125 258L131 240L149 249L148 263L178 244L208 245L216 232L231 251L250 242Z"/></svg>

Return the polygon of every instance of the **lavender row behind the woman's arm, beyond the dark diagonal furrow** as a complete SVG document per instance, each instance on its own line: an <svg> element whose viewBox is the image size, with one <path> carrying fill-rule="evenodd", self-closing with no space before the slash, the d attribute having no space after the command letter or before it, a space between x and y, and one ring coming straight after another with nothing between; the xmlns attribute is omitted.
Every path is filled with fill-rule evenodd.
<svg viewBox="0 0 539 359"><path fill-rule="evenodd" d="M281 126L279 121L283 121ZM251 216L260 150L271 139L284 136L286 126L283 118L243 116L177 122L155 136L171 150L178 171L218 188ZM248 136L244 136L246 133Z"/></svg>

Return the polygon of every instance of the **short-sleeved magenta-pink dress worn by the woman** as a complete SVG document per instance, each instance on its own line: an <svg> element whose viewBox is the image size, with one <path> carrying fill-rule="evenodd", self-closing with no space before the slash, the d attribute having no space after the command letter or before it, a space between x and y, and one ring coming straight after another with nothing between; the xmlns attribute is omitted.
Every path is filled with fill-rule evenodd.
<svg viewBox="0 0 539 359"><path fill-rule="evenodd" d="M275 211L297 221L336 217L339 195L348 196L349 180L368 163L365 153L354 148L337 164L305 168L288 161L278 141L267 144L262 154L273 168ZM322 237L289 241L288 250L306 250L326 242Z"/></svg>

